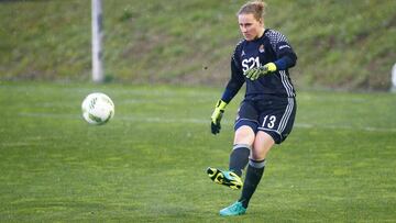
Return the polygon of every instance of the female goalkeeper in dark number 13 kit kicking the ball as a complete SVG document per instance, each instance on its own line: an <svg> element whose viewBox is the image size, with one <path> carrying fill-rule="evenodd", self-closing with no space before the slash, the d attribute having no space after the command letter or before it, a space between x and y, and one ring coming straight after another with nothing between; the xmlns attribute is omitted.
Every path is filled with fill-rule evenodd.
<svg viewBox="0 0 396 223"><path fill-rule="evenodd" d="M242 85L246 92L234 124L233 149L229 170L208 168L209 177L232 189L242 188L241 198L222 210L220 215L244 214L265 167L265 157L274 144L280 144L292 132L296 115L296 93L288 68L297 56L286 37L264 26L263 1L241 7L238 22L244 38L231 58L231 79L211 115L211 132L220 132L220 121L227 104ZM242 170L248 166L244 182Z"/></svg>

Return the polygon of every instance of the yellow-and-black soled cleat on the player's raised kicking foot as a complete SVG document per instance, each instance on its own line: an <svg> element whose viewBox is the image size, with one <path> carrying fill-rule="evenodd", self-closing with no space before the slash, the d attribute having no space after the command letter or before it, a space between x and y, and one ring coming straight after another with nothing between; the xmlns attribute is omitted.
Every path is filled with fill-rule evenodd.
<svg viewBox="0 0 396 223"><path fill-rule="evenodd" d="M209 167L207 169L207 174L216 183L227 186L231 189L238 190L243 186L241 178L233 171L222 171L220 169Z"/></svg>

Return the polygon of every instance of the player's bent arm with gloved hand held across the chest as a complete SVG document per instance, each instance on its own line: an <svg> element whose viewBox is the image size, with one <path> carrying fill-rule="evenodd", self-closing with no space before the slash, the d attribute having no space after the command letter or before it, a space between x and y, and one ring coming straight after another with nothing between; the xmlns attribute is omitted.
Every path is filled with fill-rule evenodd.
<svg viewBox="0 0 396 223"><path fill-rule="evenodd" d="M264 66L248 70L245 76L251 80L255 80L261 76L275 73L276 70L286 70L296 65L297 55L293 51L290 44L287 42L286 37L278 32L271 36L273 40L270 40L270 42L272 43L277 59L275 62L267 63Z"/></svg>

